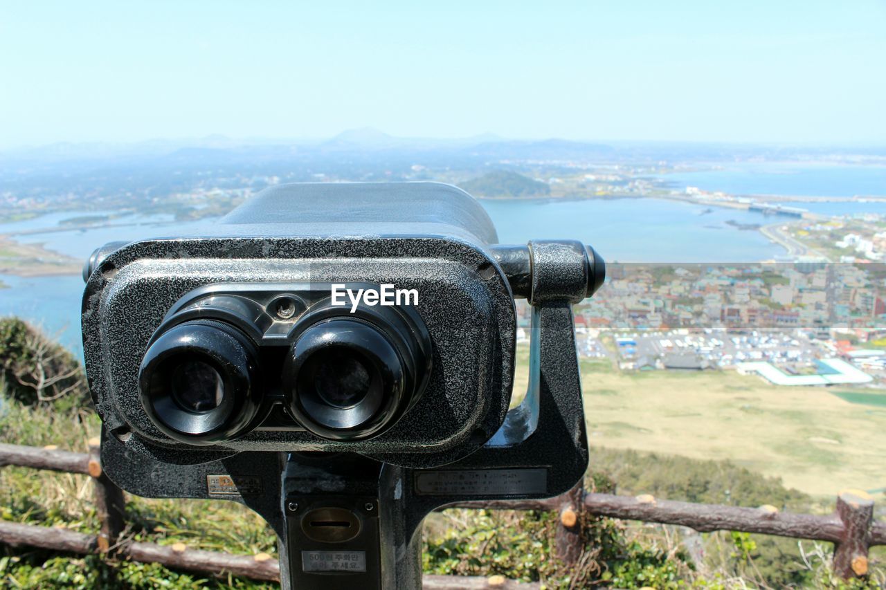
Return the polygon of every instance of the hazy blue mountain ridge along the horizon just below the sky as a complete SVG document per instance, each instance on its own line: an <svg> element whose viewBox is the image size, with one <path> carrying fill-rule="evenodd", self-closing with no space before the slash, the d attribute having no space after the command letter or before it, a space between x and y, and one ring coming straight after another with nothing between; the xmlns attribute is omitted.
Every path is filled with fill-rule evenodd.
<svg viewBox="0 0 886 590"><path fill-rule="evenodd" d="M229 153L222 153L229 151ZM508 139L493 133L470 137L400 137L377 128L354 128L325 138L229 137L209 135L178 139L149 139L132 143L60 142L48 145L0 149L0 175L4 171L32 173L61 172L64 167L114 167L139 165L151 159L169 156L176 162L198 160L212 164L217 156L222 161L251 162L253 159L339 159L349 157L377 160L390 159L409 165L422 163L444 167L472 167L507 160L516 162L615 162L655 165L662 160L702 162L742 159L834 159L835 157L886 156L884 146L797 146L717 144L692 142L613 142L596 144L565 139ZM68 166L70 165L70 166Z"/></svg>

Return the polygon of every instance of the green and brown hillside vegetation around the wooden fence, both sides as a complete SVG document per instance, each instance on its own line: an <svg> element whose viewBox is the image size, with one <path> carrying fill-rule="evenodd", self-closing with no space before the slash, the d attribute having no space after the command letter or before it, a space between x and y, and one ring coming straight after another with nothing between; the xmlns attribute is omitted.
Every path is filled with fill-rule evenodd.
<svg viewBox="0 0 886 590"><path fill-rule="evenodd" d="M0 441L85 451L87 440L97 435L100 424L83 397L82 370L72 356L55 346L27 324L0 320L0 359L6 380L0 387ZM35 354L32 347L44 352ZM45 377L43 395L29 377L21 377L34 374ZM63 378L47 385L54 377ZM592 457L586 485L601 492L653 493L708 502L724 502L727 497L727 503L756 506L766 502L797 511L832 509L786 489L776 478L726 461L606 448L592 449ZM6 521L95 533L98 519L91 497L86 476L16 467L0 470L0 512ZM276 554L270 528L237 503L132 495L127 495L127 501L125 539L163 545L182 542L188 547L245 555ZM728 532L702 535L674 527L582 517L587 532L582 560L578 568L565 569L552 559L556 514L465 509L433 514L424 531L424 571L501 574L541 581L548 588L874 588L886 580L876 552L870 578L844 585L831 575L827 544L804 541L799 544L801 555L795 540ZM0 586L19 588L276 587L97 555L6 546L0 547L0 580Z"/></svg>

